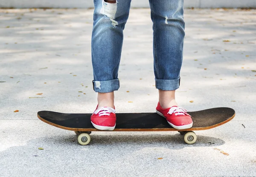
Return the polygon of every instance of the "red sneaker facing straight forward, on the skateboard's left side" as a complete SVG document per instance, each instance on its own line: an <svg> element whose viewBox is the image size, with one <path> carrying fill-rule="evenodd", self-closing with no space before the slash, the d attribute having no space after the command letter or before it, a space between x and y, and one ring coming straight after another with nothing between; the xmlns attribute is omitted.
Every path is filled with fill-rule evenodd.
<svg viewBox="0 0 256 177"><path fill-rule="evenodd" d="M116 127L116 110L111 107L96 107L91 115L93 127L99 130L114 130Z"/></svg>

